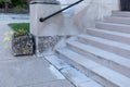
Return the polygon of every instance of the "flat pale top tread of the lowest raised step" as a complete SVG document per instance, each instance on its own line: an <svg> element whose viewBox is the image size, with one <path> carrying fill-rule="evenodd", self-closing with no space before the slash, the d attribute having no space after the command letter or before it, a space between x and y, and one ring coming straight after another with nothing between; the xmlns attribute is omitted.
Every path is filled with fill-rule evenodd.
<svg viewBox="0 0 130 87"><path fill-rule="evenodd" d="M119 85L120 87L130 86L130 83L129 83L130 78L128 78L110 69L107 69L101 64L98 64L98 63L87 59L87 57L84 58L72 50L68 50L67 48L58 49L57 51L60 53L66 55L70 60L75 61L76 63L82 65L83 67L86 67L92 72L95 72L96 74L99 74L100 76L103 76L104 78L110 80L112 83Z"/></svg>

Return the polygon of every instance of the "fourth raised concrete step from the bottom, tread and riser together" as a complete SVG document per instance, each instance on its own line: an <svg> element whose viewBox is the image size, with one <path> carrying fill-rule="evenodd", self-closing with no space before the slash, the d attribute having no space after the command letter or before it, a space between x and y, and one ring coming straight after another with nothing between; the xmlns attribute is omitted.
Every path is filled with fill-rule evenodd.
<svg viewBox="0 0 130 87"><path fill-rule="evenodd" d="M104 39L115 40L123 44L130 44L130 34L110 32L105 29L89 28L87 34Z"/></svg>

